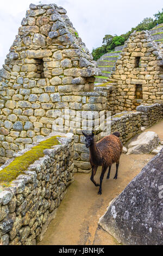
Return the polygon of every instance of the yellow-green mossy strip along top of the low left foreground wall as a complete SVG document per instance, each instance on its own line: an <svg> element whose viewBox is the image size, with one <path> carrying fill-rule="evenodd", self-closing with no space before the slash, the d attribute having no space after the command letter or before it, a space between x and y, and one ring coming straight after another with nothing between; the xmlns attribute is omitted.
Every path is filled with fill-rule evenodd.
<svg viewBox="0 0 163 256"><path fill-rule="evenodd" d="M40 142L38 145L24 153L22 156L18 156L12 161L9 166L0 170L0 184L2 186L9 186L12 180L15 180L18 175L23 174L24 170L27 170L30 164L33 164L40 157L43 157L43 150L50 149L54 145L60 144L57 137L53 136L46 141Z"/></svg>

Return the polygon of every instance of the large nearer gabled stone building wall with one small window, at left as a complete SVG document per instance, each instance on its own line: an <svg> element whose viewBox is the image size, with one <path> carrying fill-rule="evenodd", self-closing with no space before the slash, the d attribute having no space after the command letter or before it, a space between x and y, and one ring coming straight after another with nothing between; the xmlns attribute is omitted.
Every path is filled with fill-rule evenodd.
<svg viewBox="0 0 163 256"><path fill-rule="evenodd" d="M0 70L0 162L48 136L65 108L73 124L78 111L106 107L106 93L93 92L101 71L64 8L30 4L21 25ZM77 160L86 153L81 130L65 131L77 134Z"/></svg>

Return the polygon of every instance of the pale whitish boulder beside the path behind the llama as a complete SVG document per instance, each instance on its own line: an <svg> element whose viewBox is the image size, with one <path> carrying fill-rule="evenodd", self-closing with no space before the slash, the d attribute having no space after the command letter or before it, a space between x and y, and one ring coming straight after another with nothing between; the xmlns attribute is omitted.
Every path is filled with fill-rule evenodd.
<svg viewBox="0 0 163 256"><path fill-rule="evenodd" d="M148 131L139 135L136 141L132 141L128 145L128 153L130 154L149 154L159 145L159 137L155 132Z"/></svg>

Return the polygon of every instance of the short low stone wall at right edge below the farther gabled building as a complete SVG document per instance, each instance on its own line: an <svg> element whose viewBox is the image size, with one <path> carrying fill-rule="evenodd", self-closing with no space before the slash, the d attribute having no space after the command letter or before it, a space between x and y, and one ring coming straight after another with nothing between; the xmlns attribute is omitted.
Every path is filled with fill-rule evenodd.
<svg viewBox="0 0 163 256"><path fill-rule="evenodd" d="M150 127L163 118L163 104L140 105L136 109L141 112L142 126Z"/></svg>

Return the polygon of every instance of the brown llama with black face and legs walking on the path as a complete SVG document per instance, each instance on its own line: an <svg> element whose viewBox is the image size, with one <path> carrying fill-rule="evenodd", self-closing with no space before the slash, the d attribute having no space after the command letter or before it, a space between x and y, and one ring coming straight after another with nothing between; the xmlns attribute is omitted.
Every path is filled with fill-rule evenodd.
<svg viewBox="0 0 163 256"><path fill-rule="evenodd" d="M90 150L90 164L92 167L91 181L95 186L99 186L98 194L102 194L102 181L106 169L109 167L109 172L107 179L110 176L110 170L113 163L116 163L116 174L114 179L117 179L118 166L120 163L120 156L122 153L122 143L118 137L120 137L119 132L114 132L112 135L105 136L99 142L95 142L95 132L92 131L91 135L86 135L82 131L83 135L86 137L86 148ZM97 133L96 133L97 134ZM97 184L94 180L94 176L97 172L98 166L102 166L102 172L100 176L100 184Z"/></svg>

